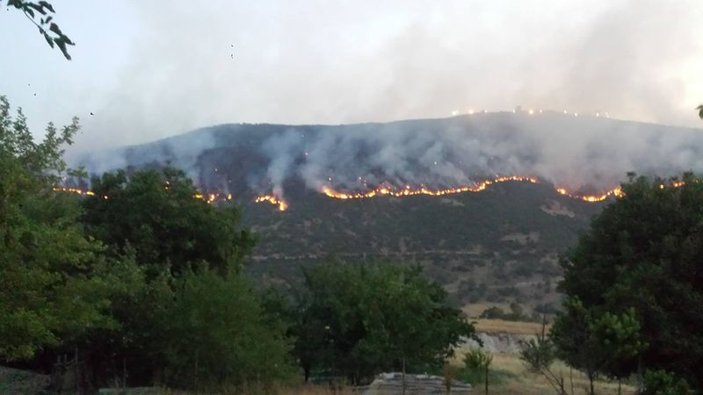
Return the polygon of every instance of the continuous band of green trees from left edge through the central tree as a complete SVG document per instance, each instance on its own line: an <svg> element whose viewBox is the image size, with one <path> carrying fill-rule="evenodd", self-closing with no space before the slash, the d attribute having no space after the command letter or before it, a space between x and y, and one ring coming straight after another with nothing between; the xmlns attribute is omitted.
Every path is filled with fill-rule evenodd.
<svg viewBox="0 0 703 395"><path fill-rule="evenodd" d="M244 274L256 237L175 169L117 171L54 191L77 120L34 142L0 98L0 361L75 388L218 390L313 377L351 384L439 369L473 327L413 267L330 262L292 294ZM60 383L55 383L60 386Z"/></svg>

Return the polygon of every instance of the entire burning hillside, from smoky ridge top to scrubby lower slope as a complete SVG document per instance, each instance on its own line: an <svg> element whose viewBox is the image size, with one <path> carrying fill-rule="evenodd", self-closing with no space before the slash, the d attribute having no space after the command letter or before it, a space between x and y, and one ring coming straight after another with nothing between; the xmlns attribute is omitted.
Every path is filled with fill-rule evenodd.
<svg viewBox="0 0 703 395"><path fill-rule="evenodd" d="M423 265L463 303L534 306L555 300L558 254L605 204L573 196L600 196L627 171L667 177L700 170L700 152L696 129L518 112L386 124L220 125L74 163L92 173L170 164L218 204L232 204L225 198L231 194L260 237L250 270L264 281L294 284L301 265L331 257L386 259ZM477 188L498 176L538 182L378 196ZM325 189L377 196L339 200ZM254 203L263 194L285 200L288 210Z"/></svg>

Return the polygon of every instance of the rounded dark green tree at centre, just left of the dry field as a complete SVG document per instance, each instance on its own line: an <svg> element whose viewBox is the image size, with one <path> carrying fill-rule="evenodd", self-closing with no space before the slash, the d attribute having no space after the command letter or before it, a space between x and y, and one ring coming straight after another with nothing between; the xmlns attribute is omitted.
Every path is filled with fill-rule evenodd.
<svg viewBox="0 0 703 395"><path fill-rule="evenodd" d="M381 371L438 369L474 333L418 268L330 262L304 275L293 332L306 376L328 370L357 384Z"/></svg>

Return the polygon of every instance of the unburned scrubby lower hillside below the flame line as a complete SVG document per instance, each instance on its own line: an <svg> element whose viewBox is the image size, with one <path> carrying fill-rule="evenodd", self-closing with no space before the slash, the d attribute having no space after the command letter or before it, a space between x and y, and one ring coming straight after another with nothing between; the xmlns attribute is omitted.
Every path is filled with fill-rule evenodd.
<svg viewBox="0 0 703 395"><path fill-rule="evenodd" d="M505 183L485 192L337 201L319 194L283 213L249 205L259 234L251 270L295 278L300 265L334 256L417 263L463 303L553 301L557 254L602 204L547 185Z"/></svg>

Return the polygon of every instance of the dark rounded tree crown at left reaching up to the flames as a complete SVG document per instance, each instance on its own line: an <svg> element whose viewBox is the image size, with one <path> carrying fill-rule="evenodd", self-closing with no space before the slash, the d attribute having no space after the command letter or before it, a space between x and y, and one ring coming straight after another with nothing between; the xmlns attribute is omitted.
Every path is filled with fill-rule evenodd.
<svg viewBox="0 0 703 395"><path fill-rule="evenodd" d="M112 257L132 249L149 278L164 266L174 274L209 265L220 273L238 269L254 245L240 226L239 210L195 199L198 191L180 170L124 170L91 181L83 200L88 234L108 246Z"/></svg>

